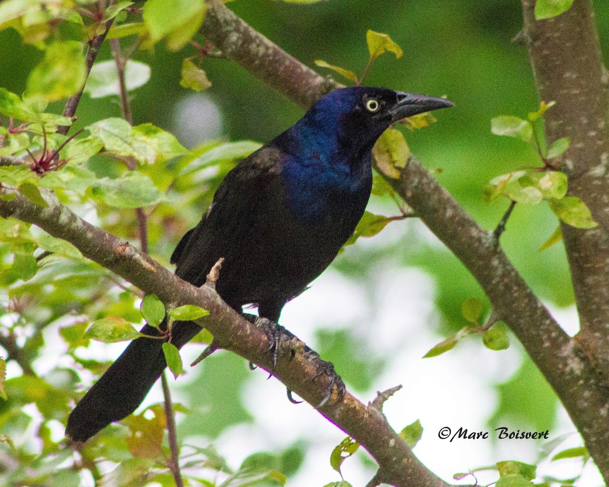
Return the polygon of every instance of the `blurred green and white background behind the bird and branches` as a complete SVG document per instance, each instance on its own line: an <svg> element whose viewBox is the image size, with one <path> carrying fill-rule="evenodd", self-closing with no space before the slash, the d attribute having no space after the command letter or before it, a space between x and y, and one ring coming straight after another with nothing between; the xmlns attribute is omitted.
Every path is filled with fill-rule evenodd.
<svg viewBox="0 0 609 487"><path fill-rule="evenodd" d="M600 0L594 5L601 45L607 47L609 5ZM398 60L393 55L379 57L365 84L445 94L455 103L455 108L438 113L438 122L431 127L405 131L405 135L412 152L484 228L494 228L509 205L505 198L491 203L482 200L488 181L539 165L529 146L490 131L495 116L526 117L538 108L529 59L518 39L514 40L521 28L518 2L351 0L347 5L334 0L313 4L239 0L229 6L312 67L314 60L323 59L359 73L368 57L365 32L389 33L404 55ZM0 87L21 94L44 53L23 43L15 29L0 30L0 46ZM135 68L139 71L133 76L142 75L149 66L150 79L132 91L134 125L150 122L174 134L188 149L199 148L198 153L203 153L227 141L268 141L303 113L221 58L208 57L202 63L211 88L203 92L182 88L183 59L194 54L191 46L167 51L163 42L135 52L133 59L145 66ZM110 49L104 44L98 62L110 59ZM47 111L62 110L59 100ZM118 97L85 94L74 125L76 129L88 127L120 113ZM255 147L245 144L233 149L247 153ZM164 190L167 178L175 177L186 163L188 158L177 163L173 159L141 171ZM167 265L175 244L197 223L214 187L234 160L219 156L213 163L213 169L200 172L198 178L177 180L167 193L169 200L150 219L150 253ZM94 156L86 167L98 178L114 178L123 171L121 163L103 155ZM94 207L78 203L77 208L97 225L136 240L132 209L116 208L107 200L97 201ZM373 197L370 209L398 214L388 197ZM0 221L2 225L6 223ZM556 225L557 218L546 205L516 205L502 244L532 289L574 334L577 317L563 246L538 250ZM8 233L6 228L3 231ZM32 279L15 281L10 274L12 253L9 244L0 244L6 286L0 290L6 306L1 331L5 337L17 337L16 356L21 359L20 365L15 361L7 364L8 401L0 401L0 433L10 437L16 448L14 452L4 445L0 455L4 473L0 475L13 482L9 472L18 466L23 471L30 469L27 475L35 472L34 477L44 485L91 485L91 478L82 471L66 469L49 475L66 458L45 455L60 451L62 422L70 401L78 395L75 391L88 387L94 374L106 365L104 361L118 356L124 346L82 338L87 324L108 316L138 323L139 301L117 287L104 271L74 259L52 262ZM27 268L28 264L23 265ZM469 298L481 299L488 312L474 279L420 222L392 222L377 236L359 239L348 247L311 290L286 306L282 324L332 360L348 387L362 399L373 398L376 390L403 384L404 390L387 402L385 412L396 429L421 420L423 437L415 453L442 477L450 480L455 472L504 459L535 463L543 442L489 439L451 443L437 436L443 426L476 431L498 426L549 429L554 439L574 431L543 377L513 338L506 351L490 351L474 337L441 357L421 359L466 324L462 303ZM201 345L187 346L184 362L189 363L200 351ZM329 455L344 435L308 405L289 404L283 386L265 379L261 372L249 371L239 357L219 352L177 382L171 380L176 401L189 410L177 416L181 442L193 445L193 451L213 443L233 469L256 454L248 461L282 472L289 485L339 480ZM155 388L145 404L161 399L160 388ZM102 472L117 463L125 472L141 467L127 461L133 456L133 449L125 447L127 431L125 426L113 426L104 433L103 441L91 446L93 457L101 454L108 459L100 465ZM578 446L579 441L577 435L571 435L565 445ZM209 450L199 454L213 457ZM581 464L581 458L546 461L541 471L576 477ZM371 472L373 464L363 452L342 466L342 474L354 485L364 483ZM588 466L583 475L579 485L600 484L594 468ZM105 482L120 484L119 477L115 472L114 480L107 476ZM125 478L129 475L122 475ZM157 480L163 482L163 478ZM480 478L484 479L484 473Z"/></svg>

